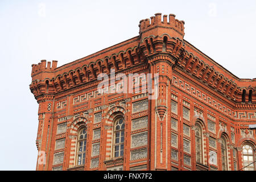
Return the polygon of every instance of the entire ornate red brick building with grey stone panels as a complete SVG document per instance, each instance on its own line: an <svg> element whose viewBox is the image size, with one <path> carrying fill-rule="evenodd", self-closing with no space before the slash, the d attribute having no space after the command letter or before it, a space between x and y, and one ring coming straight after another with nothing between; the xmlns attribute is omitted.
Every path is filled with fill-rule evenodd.
<svg viewBox="0 0 256 182"><path fill-rule="evenodd" d="M36 170L239 170L253 163L256 78L234 76L183 38L184 22L158 13L122 43L61 67L33 64ZM111 92L99 92L100 74L112 71L104 87ZM143 81L146 73L152 78ZM117 92L128 82L137 92Z"/></svg>

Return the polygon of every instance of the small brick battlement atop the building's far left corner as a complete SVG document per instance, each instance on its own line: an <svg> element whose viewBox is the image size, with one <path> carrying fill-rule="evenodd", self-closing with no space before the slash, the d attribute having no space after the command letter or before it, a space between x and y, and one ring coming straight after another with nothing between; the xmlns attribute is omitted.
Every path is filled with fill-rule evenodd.
<svg viewBox="0 0 256 182"><path fill-rule="evenodd" d="M41 63L38 63L38 64L32 64L31 76L42 71L48 71L48 72L54 71L54 69L57 68L57 62L58 61L52 61L52 67L51 67L51 61L48 61L46 65L46 60L41 60Z"/></svg>

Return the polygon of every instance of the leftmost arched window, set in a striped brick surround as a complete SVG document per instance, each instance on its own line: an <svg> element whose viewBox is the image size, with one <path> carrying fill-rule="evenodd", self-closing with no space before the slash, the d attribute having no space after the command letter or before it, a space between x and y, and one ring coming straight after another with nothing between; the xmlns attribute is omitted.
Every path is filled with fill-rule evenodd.
<svg viewBox="0 0 256 182"><path fill-rule="evenodd" d="M79 130L79 135L77 136L77 165L82 165L85 163L86 138L86 127L82 127Z"/></svg>

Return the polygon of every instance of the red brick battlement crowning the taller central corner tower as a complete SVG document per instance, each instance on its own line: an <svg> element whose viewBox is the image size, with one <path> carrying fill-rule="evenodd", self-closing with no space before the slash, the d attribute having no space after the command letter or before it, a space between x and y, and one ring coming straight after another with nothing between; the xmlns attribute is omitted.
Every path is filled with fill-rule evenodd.
<svg viewBox="0 0 256 182"><path fill-rule="evenodd" d="M175 19L174 14L169 14L169 18L168 15L163 15L162 20L162 13L156 13L155 16L151 16L150 19L143 19L139 22L139 33L142 33L153 27L160 26L172 28L184 36L184 24L185 22L183 20L180 21Z"/></svg>

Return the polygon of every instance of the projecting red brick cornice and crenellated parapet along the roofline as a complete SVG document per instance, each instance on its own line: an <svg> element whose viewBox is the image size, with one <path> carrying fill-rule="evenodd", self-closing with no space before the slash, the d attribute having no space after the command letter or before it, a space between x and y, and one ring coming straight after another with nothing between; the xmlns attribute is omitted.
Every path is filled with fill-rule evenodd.
<svg viewBox="0 0 256 182"><path fill-rule="evenodd" d="M196 48L193 51L192 46L183 40L184 22L175 19L175 15L162 16L157 13L150 19L141 20L139 28L139 36L59 68L57 61L51 63L42 60L32 64L31 92L35 97L55 94L96 82L98 75L109 75L111 69L123 72L140 64L146 65L155 56L161 55L170 57L170 63L176 68L234 103L250 104L256 101L256 79L244 80L229 76L232 73L227 74L228 71L221 66L213 66L215 62L206 59L206 55L199 56L200 51Z"/></svg>

